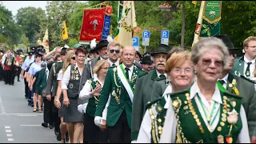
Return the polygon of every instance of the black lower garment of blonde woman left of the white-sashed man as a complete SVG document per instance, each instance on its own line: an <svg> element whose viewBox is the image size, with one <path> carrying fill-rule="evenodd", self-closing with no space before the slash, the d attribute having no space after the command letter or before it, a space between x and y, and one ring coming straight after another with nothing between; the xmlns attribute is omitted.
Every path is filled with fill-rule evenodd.
<svg viewBox="0 0 256 144"><path fill-rule="evenodd" d="M106 143L108 138L107 128L106 130L102 131L98 126L94 124L94 117L91 117L89 114L85 114L84 117L84 141L93 143Z"/></svg>

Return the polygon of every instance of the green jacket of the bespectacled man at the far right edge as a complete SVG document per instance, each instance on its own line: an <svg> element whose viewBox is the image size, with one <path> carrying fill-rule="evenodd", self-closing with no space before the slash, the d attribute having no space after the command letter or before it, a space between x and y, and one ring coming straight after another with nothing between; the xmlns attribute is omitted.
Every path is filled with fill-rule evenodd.
<svg viewBox="0 0 256 144"><path fill-rule="evenodd" d="M231 70L231 73L238 76L245 75L245 71L243 70L244 66L245 66L244 57L235 58L234 66L233 66L233 69Z"/></svg>

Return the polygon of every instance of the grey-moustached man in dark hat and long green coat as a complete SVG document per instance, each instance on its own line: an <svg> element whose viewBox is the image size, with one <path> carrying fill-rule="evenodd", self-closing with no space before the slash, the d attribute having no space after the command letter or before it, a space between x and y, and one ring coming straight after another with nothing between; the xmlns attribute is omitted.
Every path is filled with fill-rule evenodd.
<svg viewBox="0 0 256 144"><path fill-rule="evenodd" d="M140 78L138 78L138 81L136 82L131 122L132 141L136 140L138 137L138 131L142 123L142 118L146 112L146 104L150 102L155 80L157 78L166 78L166 55L169 50L169 46L160 44L154 53L151 54L154 57L155 70L150 71L148 74L139 76Z"/></svg>

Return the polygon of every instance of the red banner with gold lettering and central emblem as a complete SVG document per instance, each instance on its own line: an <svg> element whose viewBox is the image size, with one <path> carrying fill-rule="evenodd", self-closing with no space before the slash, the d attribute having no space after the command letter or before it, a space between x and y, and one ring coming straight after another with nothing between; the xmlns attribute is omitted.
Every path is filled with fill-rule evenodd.
<svg viewBox="0 0 256 144"><path fill-rule="evenodd" d="M80 42L90 42L94 38L96 38L96 42L101 40L104 14L105 9L83 11L82 28L79 38Z"/></svg>

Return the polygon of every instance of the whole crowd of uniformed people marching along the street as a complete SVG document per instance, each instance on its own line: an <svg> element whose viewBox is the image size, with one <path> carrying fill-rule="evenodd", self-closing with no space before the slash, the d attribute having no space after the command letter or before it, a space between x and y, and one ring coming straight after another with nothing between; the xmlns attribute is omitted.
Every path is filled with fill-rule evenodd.
<svg viewBox="0 0 256 144"><path fill-rule="evenodd" d="M238 58L227 35L146 54L113 40L92 41L90 51L31 46L24 61L2 52L0 76L14 85L21 71L28 105L63 143L250 143L256 37L243 46Z"/></svg>

